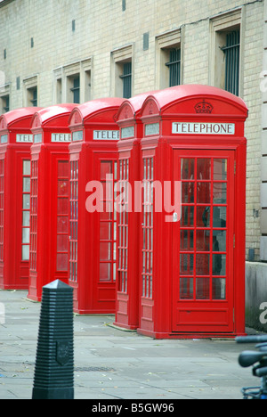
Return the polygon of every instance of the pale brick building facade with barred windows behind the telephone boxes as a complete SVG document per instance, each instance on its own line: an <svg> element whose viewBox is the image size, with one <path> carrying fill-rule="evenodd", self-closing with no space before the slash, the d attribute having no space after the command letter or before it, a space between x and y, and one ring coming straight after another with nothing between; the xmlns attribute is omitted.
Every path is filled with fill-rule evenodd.
<svg viewBox="0 0 267 417"><path fill-rule="evenodd" d="M2 0L0 114L165 88L172 61L176 83L225 88L233 33L249 108L247 274L267 282L267 0Z"/></svg>

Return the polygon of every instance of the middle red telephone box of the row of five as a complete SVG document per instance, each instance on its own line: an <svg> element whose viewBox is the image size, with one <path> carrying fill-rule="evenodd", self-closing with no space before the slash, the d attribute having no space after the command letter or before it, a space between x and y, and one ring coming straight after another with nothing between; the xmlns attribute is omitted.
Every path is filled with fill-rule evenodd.
<svg viewBox="0 0 267 417"><path fill-rule="evenodd" d="M69 285L79 314L115 313L119 136L115 116L122 102L118 98L86 102L69 118Z"/></svg>

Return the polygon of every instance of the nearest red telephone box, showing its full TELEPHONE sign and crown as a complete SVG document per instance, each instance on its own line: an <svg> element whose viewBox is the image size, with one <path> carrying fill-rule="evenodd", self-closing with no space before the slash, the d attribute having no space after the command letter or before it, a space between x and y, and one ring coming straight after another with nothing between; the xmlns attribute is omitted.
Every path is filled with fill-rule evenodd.
<svg viewBox="0 0 267 417"><path fill-rule="evenodd" d="M244 334L247 106L214 87L177 86L150 95L141 119L138 331Z"/></svg>

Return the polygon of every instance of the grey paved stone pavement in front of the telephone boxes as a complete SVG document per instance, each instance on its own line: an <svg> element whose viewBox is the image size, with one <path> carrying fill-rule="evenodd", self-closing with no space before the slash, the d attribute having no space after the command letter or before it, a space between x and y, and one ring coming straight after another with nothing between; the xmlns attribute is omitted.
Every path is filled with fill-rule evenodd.
<svg viewBox="0 0 267 417"><path fill-rule="evenodd" d="M0 399L32 397L41 304L27 294L0 290ZM118 330L114 318L74 316L75 399L242 399L242 387L259 384L238 364L250 345L150 339Z"/></svg>

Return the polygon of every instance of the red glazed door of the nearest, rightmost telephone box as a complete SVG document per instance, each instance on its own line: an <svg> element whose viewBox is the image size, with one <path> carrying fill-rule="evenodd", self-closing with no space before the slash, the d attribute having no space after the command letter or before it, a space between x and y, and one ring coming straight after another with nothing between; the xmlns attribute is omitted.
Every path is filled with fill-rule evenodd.
<svg viewBox="0 0 267 417"><path fill-rule="evenodd" d="M174 151L173 331L234 329L234 151Z"/></svg>

